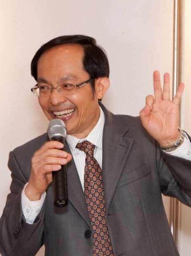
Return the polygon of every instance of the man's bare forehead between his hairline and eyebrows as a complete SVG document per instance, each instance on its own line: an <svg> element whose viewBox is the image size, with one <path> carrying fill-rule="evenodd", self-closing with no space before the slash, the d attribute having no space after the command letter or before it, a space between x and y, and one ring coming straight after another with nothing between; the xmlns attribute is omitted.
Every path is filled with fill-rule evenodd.
<svg viewBox="0 0 191 256"><path fill-rule="evenodd" d="M63 75L82 71L84 50L81 45L65 44L48 49L40 56L37 65L38 77L51 74Z"/></svg>

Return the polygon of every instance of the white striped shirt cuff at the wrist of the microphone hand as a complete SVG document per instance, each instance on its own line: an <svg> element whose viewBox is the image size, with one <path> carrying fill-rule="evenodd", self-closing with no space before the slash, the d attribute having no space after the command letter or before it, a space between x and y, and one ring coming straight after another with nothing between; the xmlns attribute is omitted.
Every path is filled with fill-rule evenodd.
<svg viewBox="0 0 191 256"><path fill-rule="evenodd" d="M26 222L29 224L33 224L34 220L36 219L37 215L39 214L40 210L42 209L42 205L46 198L46 192L44 191L40 200L30 201L29 198L24 193L24 190L25 190L25 187L27 186L27 184L25 184L24 189L22 190L22 194L21 194L22 213L23 213L23 216L24 216Z"/></svg>

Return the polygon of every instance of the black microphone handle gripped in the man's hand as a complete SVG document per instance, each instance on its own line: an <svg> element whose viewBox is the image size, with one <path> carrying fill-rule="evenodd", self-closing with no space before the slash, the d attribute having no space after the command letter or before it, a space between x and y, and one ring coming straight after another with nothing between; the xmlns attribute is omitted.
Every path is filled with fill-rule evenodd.
<svg viewBox="0 0 191 256"><path fill-rule="evenodd" d="M54 136L51 140L56 140L63 143L63 150L65 151L65 140L62 136ZM57 207L65 207L68 204L67 165L62 165L62 168L59 171L53 171L52 176L54 188L54 205Z"/></svg>

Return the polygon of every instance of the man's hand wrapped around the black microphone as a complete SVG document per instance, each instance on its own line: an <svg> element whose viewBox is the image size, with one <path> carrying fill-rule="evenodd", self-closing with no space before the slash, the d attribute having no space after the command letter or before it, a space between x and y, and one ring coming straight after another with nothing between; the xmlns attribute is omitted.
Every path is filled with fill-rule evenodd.
<svg viewBox="0 0 191 256"><path fill-rule="evenodd" d="M62 120L59 121L62 122ZM63 151L63 143L58 141L44 143L35 152L31 161L31 175L29 184L25 188L25 194L29 200L40 200L53 180L52 171L59 171L71 159L71 154Z"/></svg>

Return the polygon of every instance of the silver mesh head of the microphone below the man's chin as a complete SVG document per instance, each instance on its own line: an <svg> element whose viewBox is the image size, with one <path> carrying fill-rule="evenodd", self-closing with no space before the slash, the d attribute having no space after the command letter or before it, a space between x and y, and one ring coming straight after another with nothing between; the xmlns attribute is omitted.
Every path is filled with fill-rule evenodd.
<svg viewBox="0 0 191 256"><path fill-rule="evenodd" d="M67 130L64 122L60 119L52 119L49 122L49 127L47 130L49 140L51 140L55 136L61 136L66 139Z"/></svg>

